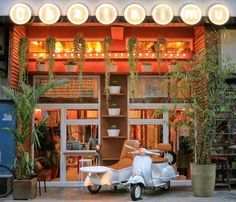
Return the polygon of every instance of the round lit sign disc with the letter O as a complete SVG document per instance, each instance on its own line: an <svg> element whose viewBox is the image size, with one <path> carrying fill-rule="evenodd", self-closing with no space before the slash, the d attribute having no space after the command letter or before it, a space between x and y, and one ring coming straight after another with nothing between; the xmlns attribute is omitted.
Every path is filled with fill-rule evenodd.
<svg viewBox="0 0 236 202"><path fill-rule="evenodd" d="M23 25L29 22L31 16L31 9L26 4L19 3L11 7L10 18L15 24Z"/></svg>

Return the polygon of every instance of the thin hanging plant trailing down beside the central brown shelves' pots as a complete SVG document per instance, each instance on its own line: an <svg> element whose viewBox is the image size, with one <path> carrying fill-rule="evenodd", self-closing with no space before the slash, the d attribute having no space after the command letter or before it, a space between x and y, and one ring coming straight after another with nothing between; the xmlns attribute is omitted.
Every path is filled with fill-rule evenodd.
<svg viewBox="0 0 236 202"><path fill-rule="evenodd" d="M112 39L109 36L106 36L103 41L103 49L104 49L104 63L105 63L105 93L106 93L106 107L109 106L110 100L110 66L111 59L109 57L109 53L111 51Z"/></svg>

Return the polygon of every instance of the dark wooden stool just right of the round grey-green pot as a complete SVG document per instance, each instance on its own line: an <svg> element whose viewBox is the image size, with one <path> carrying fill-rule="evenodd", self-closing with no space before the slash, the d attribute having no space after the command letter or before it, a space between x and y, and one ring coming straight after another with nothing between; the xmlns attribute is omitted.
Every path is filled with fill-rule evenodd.
<svg viewBox="0 0 236 202"><path fill-rule="evenodd" d="M217 185L225 185L228 186L228 190L231 190L231 186L230 186L230 177L229 177L229 167L228 167L228 158L226 156L212 156L211 157L211 161L212 163L216 163L216 168L220 167L220 171L222 174L222 184L218 184ZM227 179L227 182L224 182L224 178Z"/></svg>

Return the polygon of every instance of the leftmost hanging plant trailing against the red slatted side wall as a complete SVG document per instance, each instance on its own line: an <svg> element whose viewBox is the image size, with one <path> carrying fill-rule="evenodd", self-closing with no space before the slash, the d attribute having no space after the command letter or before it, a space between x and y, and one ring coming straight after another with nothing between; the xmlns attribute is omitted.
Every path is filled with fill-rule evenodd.
<svg viewBox="0 0 236 202"><path fill-rule="evenodd" d="M18 47L20 83L27 81L28 52L29 52L29 39L27 37L20 38Z"/></svg>

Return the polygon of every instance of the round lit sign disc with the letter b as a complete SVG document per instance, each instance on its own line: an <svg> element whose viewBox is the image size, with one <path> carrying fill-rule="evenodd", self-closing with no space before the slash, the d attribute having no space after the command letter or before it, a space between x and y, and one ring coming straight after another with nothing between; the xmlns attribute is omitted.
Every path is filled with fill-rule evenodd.
<svg viewBox="0 0 236 202"><path fill-rule="evenodd" d="M39 9L39 18L44 24L54 24L60 18L60 10L55 4L44 4Z"/></svg>

